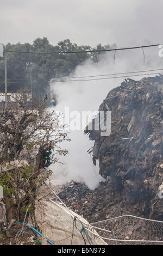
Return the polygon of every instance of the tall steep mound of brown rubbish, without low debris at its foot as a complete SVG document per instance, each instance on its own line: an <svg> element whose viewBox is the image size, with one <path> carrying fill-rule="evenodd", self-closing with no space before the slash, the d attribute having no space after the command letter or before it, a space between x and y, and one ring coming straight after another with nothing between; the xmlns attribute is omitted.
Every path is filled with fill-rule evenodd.
<svg viewBox="0 0 163 256"><path fill-rule="evenodd" d="M109 92L99 111L111 111L111 134L86 130L95 141L93 163L121 201L140 215L163 217L163 76L127 79Z"/></svg>

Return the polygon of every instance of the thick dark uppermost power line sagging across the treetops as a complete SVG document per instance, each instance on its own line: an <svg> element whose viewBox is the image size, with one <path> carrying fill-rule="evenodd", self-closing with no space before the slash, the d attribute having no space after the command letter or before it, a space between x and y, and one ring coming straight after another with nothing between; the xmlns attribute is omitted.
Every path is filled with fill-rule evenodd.
<svg viewBox="0 0 163 256"><path fill-rule="evenodd" d="M88 51L68 51L68 52L23 52L23 51L9 51L4 50L5 52L15 52L15 53L30 53L30 54L66 54L66 53L87 53L87 52L110 52L110 51L121 51L121 50L132 50L137 48L146 48L146 47L154 47L159 46L160 44L155 45L142 45L135 47L125 47L125 48L114 48L114 49L105 49L105 50L88 50Z"/></svg>

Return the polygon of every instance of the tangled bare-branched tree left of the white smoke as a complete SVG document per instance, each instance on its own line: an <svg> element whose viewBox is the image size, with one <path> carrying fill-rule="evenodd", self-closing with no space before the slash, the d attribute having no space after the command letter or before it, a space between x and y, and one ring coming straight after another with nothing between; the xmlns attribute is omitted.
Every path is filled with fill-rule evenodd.
<svg viewBox="0 0 163 256"><path fill-rule="evenodd" d="M0 185L4 190L7 223L12 218L34 221L35 202L46 193L39 188L49 180L47 168L59 162L59 155L68 151L60 148L67 138L61 116L48 111L45 101L27 101L26 93L12 95L7 107L0 107Z"/></svg>

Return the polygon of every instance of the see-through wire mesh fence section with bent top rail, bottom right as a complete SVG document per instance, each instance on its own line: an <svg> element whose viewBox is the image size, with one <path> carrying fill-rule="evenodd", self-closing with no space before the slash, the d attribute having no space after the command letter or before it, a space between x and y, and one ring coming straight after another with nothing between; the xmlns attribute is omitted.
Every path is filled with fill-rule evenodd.
<svg viewBox="0 0 163 256"><path fill-rule="evenodd" d="M99 235L106 238L104 240L108 245L163 244L163 222L161 221L124 215L91 225L95 230L98 229Z"/></svg>

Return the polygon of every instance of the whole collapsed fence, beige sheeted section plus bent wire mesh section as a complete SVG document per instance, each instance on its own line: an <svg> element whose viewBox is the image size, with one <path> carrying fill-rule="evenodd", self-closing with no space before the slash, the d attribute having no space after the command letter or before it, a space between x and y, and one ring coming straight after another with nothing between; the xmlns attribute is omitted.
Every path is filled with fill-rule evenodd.
<svg viewBox="0 0 163 256"><path fill-rule="evenodd" d="M52 239L55 235L55 244L163 244L163 221L149 220L147 218L136 217L133 215L122 215L103 221L88 223L84 218L68 209L57 194L53 190L52 192L54 193L55 197L60 200L61 205L53 202L52 200L44 200L42 210L39 212L37 211L37 217L40 220L40 223L43 222L43 220L46 220L51 227L53 226ZM40 214L43 214L43 216ZM56 224L58 225L57 228ZM56 230L62 230L64 232L62 234L57 234ZM69 235L67 236L66 233ZM80 237L78 236L79 233ZM83 238L82 240L81 236ZM74 239L74 237L76 237L76 239ZM71 240L71 243L69 240Z"/></svg>

